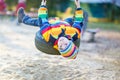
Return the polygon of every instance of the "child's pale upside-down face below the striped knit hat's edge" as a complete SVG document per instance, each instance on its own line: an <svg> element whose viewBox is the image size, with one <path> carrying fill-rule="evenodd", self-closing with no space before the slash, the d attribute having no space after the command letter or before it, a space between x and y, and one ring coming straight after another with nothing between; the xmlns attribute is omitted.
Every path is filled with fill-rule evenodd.
<svg viewBox="0 0 120 80"><path fill-rule="evenodd" d="M58 48L64 50L69 45L69 40L66 37L60 37L58 40Z"/></svg>

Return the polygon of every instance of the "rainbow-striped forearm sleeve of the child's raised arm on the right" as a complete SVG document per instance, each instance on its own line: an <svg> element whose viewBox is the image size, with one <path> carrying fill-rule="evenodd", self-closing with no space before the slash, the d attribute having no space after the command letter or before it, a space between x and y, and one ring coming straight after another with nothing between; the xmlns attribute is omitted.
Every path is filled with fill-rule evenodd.
<svg viewBox="0 0 120 80"><path fill-rule="evenodd" d="M82 8L77 8L75 11L75 22L83 22L83 10Z"/></svg>

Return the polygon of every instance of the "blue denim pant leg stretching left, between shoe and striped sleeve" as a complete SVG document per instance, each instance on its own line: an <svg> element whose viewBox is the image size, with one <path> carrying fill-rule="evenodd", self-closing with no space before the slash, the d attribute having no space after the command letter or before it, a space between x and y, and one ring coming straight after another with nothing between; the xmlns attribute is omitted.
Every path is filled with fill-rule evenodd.
<svg viewBox="0 0 120 80"><path fill-rule="evenodd" d="M31 18L29 16L24 16L23 23L31 26L39 26L38 18Z"/></svg>

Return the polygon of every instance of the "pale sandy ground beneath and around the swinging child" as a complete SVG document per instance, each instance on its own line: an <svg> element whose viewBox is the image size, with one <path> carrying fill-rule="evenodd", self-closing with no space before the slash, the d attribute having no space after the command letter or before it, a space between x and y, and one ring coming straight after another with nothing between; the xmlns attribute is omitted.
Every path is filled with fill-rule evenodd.
<svg viewBox="0 0 120 80"><path fill-rule="evenodd" d="M120 80L120 33L100 31L81 41L75 60L47 55L34 45L39 28L0 21L0 80Z"/></svg>

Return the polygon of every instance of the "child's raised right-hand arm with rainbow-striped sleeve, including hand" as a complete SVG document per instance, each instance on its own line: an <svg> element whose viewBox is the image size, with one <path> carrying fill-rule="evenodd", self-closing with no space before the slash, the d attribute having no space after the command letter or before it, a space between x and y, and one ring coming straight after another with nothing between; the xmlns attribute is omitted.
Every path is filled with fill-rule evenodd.
<svg viewBox="0 0 120 80"><path fill-rule="evenodd" d="M77 28L81 32L82 26L83 26L83 10L80 7L80 1L79 0L75 0L75 4L76 4L77 8L76 8L76 11L75 11L73 27Z"/></svg>

